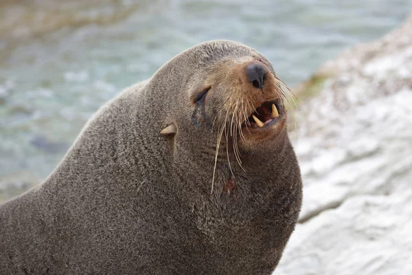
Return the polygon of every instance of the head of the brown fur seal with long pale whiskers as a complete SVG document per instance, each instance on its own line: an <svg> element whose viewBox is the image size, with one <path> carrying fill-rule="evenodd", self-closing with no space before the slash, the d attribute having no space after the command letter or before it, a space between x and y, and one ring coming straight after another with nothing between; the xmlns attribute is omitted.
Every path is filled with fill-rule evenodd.
<svg viewBox="0 0 412 275"><path fill-rule="evenodd" d="M288 88L271 63L250 47L230 41L203 43L176 56L151 83L163 83L166 74L179 82L168 82L165 93L156 95L167 98L158 131L170 134L165 140L173 144L179 166L187 159L203 162L205 170L214 159L215 174L222 162L232 174L253 171L255 155L266 158L288 143Z"/></svg>

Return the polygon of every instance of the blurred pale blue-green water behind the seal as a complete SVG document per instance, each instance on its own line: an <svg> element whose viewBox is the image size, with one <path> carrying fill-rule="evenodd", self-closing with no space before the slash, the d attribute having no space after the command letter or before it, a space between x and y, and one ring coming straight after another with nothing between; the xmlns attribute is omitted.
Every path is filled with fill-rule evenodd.
<svg viewBox="0 0 412 275"><path fill-rule="evenodd" d="M47 177L98 107L187 47L246 43L293 87L411 10L412 0L2 1L0 200Z"/></svg>

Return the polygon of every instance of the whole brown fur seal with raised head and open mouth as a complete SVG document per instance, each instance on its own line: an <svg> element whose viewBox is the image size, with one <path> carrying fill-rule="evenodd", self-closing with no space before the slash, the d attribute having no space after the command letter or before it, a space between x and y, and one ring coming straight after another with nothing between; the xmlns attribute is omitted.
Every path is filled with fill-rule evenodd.
<svg viewBox="0 0 412 275"><path fill-rule="evenodd" d="M271 63L231 41L175 56L0 206L1 274L270 274L301 175Z"/></svg>

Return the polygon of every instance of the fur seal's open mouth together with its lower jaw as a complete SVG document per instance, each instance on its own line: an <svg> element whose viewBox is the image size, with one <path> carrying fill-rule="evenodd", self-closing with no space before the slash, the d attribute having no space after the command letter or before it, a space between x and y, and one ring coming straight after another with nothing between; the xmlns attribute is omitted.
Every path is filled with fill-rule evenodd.
<svg viewBox="0 0 412 275"><path fill-rule="evenodd" d="M245 137L260 139L281 131L286 121L286 113L281 100L263 102L249 118L242 123L242 133Z"/></svg>

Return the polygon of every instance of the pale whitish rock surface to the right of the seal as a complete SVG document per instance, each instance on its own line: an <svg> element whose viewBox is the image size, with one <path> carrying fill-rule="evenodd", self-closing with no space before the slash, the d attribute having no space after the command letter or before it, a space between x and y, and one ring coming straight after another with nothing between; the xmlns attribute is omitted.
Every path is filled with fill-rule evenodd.
<svg viewBox="0 0 412 275"><path fill-rule="evenodd" d="M412 17L315 74L291 133L304 205L274 274L412 274L411 30Z"/></svg>

